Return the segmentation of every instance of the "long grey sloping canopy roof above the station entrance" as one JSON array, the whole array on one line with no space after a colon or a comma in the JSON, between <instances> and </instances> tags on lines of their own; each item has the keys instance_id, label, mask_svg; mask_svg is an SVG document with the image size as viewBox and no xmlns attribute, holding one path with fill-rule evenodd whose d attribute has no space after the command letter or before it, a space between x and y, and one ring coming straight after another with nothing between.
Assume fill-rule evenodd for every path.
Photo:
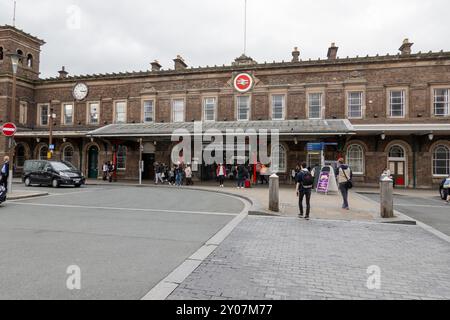
<instances>
[{"instance_id":1,"label":"long grey sloping canopy roof above the station entrance","mask_svg":"<svg viewBox=\"0 0 450 320\"><path fill-rule=\"evenodd\" d=\"M194 123L139 123L111 124L88 133L91 137L145 137L170 136L176 129L186 129L194 133ZM354 129L348 120L286 120L286 121L227 121L203 122L203 132L217 129L226 132L227 129L278 129L280 135L336 135L354 134Z\"/></svg>"}]
</instances>

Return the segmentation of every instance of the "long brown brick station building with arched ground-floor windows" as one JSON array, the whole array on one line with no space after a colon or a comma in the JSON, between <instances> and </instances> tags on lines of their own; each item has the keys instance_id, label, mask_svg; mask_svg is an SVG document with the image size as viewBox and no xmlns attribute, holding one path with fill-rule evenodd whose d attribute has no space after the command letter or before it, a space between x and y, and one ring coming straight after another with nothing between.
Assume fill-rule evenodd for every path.
<instances>
[{"instance_id":1,"label":"long brown brick station building with arched ground-floor windows","mask_svg":"<svg viewBox=\"0 0 450 320\"><path fill-rule=\"evenodd\" d=\"M97 178L104 161L115 161L119 179L137 179L142 150L144 178L154 161L170 164L175 128L277 128L280 175L289 180L297 163L320 163L308 142L328 142L326 160L344 156L357 185L377 185L389 167L397 185L435 187L450 173L450 52L413 53L405 40L393 55L257 63L247 56L230 65L188 67L178 56L172 70L39 77L44 41L11 26L0 27L0 121L15 122L16 174L27 159L45 159L49 114L53 159L73 163ZM7 53L23 56L17 79L16 119L10 119L12 69ZM248 92L233 85L238 74L253 80ZM74 98L81 84L82 100ZM80 88L80 87L78 87ZM142 139L142 149L140 147ZM0 138L0 155L7 141ZM200 165L200 179L214 168Z\"/></svg>"}]
</instances>

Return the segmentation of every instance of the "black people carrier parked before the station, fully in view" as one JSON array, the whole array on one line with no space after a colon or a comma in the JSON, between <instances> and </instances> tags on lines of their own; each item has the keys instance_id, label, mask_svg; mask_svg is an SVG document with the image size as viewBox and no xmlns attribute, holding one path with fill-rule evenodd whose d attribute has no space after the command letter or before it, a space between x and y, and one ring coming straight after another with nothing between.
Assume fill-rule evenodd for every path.
<instances>
[{"instance_id":1,"label":"black people carrier parked before the station, fully in view","mask_svg":"<svg viewBox=\"0 0 450 320\"><path fill-rule=\"evenodd\" d=\"M85 184L83 174L67 162L47 160L25 161L22 181L26 186L33 184L58 188L61 185L80 187Z\"/></svg>"}]
</instances>

